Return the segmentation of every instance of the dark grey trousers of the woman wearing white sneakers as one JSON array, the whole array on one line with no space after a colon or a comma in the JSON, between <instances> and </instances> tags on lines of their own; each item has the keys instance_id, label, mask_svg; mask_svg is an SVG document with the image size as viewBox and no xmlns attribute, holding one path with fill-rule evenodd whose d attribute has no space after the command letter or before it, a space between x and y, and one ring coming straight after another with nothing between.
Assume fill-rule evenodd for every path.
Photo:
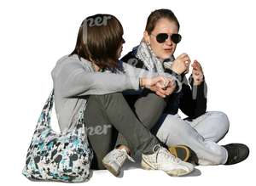
<instances>
[{"instance_id":1,"label":"dark grey trousers of the woman wearing white sneakers","mask_svg":"<svg viewBox=\"0 0 256 186\"><path fill-rule=\"evenodd\" d=\"M143 112L143 108L137 106L136 108ZM161 112L158 116L155 115L156 113L152 113L153 121L148 117L143 120L155 123L161 115ZM137 119L122 93L90 95L84 111L84 123L90 146L94 151L91 165L93 169L105 169L102 159L114 149L118 132L127 139L126 145L133 152L152 154L154 146L160 144L158 139Z\"/></svg>"}]
</instances>

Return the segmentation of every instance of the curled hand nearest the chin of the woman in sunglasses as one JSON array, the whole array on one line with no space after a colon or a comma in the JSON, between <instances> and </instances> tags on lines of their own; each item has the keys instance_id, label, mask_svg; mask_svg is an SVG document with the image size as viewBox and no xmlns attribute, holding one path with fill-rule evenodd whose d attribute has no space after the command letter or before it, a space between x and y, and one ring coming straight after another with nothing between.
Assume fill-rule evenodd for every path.
<instances>
[{"instance_id":1,"label":"curled hand nearest the chin of the woman in sunglasses","mask_svg":"<svg viewBox=\"0 0 256 186\"><path fill-rule=\"evenodd\" d=\"M181 54L173 61L171 69L178 75L181 75L183 72L188 73L190 62L188 54Z\"/></svg>"}]
</instances>

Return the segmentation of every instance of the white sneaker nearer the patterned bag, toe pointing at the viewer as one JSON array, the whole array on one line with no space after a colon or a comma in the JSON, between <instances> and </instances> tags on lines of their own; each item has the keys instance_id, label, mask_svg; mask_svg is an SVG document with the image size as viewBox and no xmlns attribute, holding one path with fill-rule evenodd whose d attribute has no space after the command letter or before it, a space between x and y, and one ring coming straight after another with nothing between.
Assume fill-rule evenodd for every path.
<instances>
[{"instance_id":1,"label":"white sneaker nearer the patterned bag, toe pointing at the viewer","mask_svg":"<svg viewBox=\"0 0 256 186\"><path fill-rule=\"evenodd\" d=\"M126 159L135 162L130 155L127 154L125 149L113 149L106 155L103 160L103 166L105 166L109 172L114 176L119 176L121 167L124 165Z\"/></svg>"}]
</instances>

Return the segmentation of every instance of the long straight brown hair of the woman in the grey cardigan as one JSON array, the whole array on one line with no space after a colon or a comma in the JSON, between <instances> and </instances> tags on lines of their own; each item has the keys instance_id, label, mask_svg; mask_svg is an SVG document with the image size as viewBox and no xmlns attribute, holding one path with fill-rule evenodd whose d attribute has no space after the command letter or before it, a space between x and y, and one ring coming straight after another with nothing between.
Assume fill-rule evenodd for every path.
<instances>
[{"instance_id":1,"label":"long straight brown hair of the woman in the grey cardigan","mask_svg":"<svg viewBox=\"0 0 256 186\"><path fill-rule=\"evenodd\" d=\"M123 27L110 14L87 17L79 28L76 47L70 55L93 61L101 69L119 67L118 50L123 40Z\"/></svg>"}]
</instances>

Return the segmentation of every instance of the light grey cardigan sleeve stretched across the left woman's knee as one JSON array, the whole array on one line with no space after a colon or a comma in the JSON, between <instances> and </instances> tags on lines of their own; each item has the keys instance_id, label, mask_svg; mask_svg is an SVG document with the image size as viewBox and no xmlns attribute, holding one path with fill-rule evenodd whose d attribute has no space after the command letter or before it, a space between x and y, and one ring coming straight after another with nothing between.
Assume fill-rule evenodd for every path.
<instances>
[{"instance_id":1,"label":"light grey cardigan sleeve stretched across the left woman's knee","mask_svg":"<svg viewBox=\"0 0 256 186\"><path fill-rule=\"evenodd\" d=\"M54 76L54 75L52 75ZM90 94L107 94L122 92L127 89L139 89L137 76L114 74L108 72L90 72L83 65L67 64L63 66L56 81L60 84L63 97Z\"/></svg>"}]
</instances>

